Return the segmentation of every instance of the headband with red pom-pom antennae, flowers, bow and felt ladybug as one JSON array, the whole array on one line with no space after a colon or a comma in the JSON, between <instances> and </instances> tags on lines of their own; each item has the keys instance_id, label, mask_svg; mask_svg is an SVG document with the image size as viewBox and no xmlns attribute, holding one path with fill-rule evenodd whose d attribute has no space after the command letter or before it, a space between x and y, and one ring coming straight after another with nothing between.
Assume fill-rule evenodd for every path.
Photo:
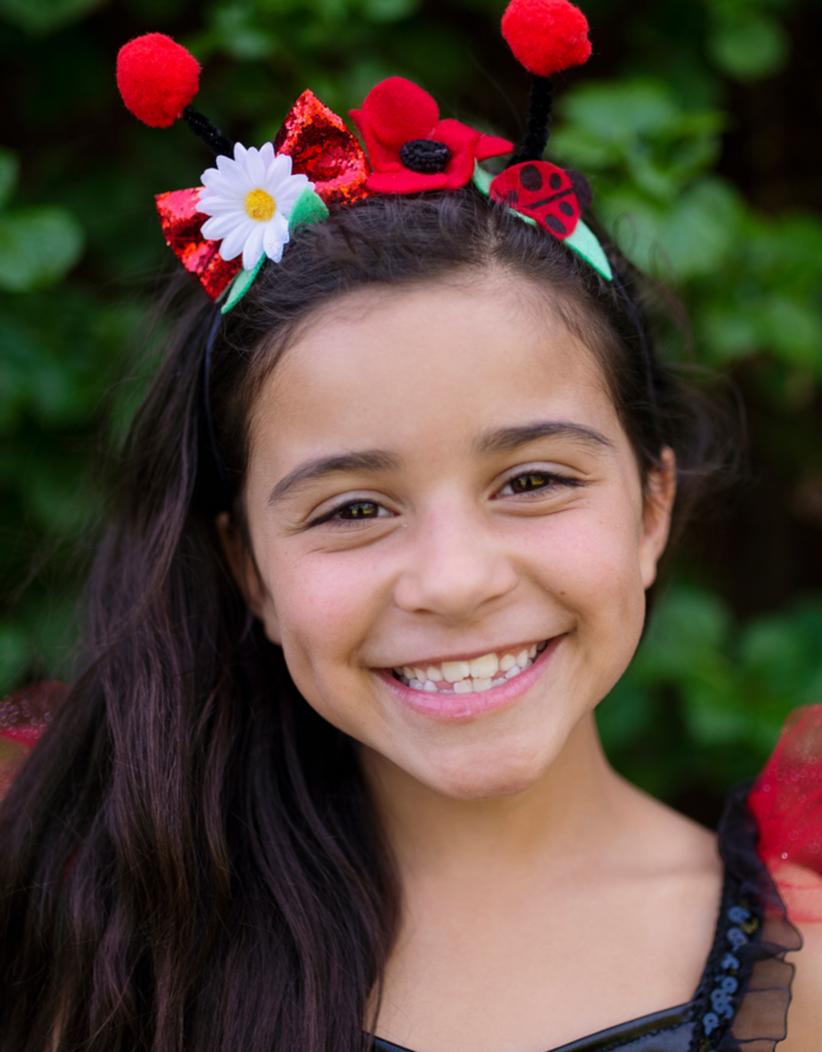
<instances>
[{"instance_id":1,"label":"headband with red pom-pom antennae, flowers, bow and felt ladybug","mask_svg":"<svg viewBox=\"0 0 822 1052\"><path fill-rule=\"evenodd\" d=\"M590 55L585 16L568 0L510 0L502 33L533 75L525 137L512 143L460 121L440 120L435 100L402 77L374 87L350 112L365 150L343 121L303 92L274 142L234 145L192 106L197 60L171 37L149 33L120 49L117 83L125 105L152 127L185 118L217 155L202 186L157 197L166 243L224 313L248 290L263 263L278 263L299 227L375 194L459 189L473 182L527 223L541 226L610 281L607 258L581 213L585 178L542 160L550 134L552 76ZM494 176L481 166L512 155Z\"/></svg>"}]
</instances>

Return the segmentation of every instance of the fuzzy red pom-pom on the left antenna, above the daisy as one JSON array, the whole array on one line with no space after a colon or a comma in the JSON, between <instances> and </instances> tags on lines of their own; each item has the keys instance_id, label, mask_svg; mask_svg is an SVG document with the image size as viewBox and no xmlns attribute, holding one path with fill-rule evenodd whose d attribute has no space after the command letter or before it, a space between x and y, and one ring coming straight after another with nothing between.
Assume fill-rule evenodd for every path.
<instances>
[{"instance_id":1,"label":"fuzzy red pom-pom on the left antenna, above the daisy","mask_svg":"<svg viewBox=\"0 0 822 1052\"><path fill-rule=\"evenodd\" d=\"M135 117L167 128L197 95L200 63L164 33L146 33L120 48L117 86Z\"/></svg>"}]
</instances>

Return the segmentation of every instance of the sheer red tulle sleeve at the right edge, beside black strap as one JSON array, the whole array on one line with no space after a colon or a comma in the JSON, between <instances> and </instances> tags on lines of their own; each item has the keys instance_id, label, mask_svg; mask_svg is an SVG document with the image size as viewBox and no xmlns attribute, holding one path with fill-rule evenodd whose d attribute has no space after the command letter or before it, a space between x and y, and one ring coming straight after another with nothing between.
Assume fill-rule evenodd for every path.
<instances>
[{"instance_id":1,"label":"sheer red tulle sleeve at the right edge, beside black strap","mask_svg":"<svg viewBox=\"0 0 822 1052\"><path fill-rule=\"evenodd\" d=\"M789 919L822 924L822 705L790 714L748 808Z\"/></svg>"}]
</instances>

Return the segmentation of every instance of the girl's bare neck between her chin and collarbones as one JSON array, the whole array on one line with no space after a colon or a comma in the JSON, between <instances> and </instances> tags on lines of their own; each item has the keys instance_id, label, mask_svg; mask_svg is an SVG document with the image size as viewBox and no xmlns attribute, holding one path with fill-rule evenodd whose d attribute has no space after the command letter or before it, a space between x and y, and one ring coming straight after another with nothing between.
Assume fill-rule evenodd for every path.
<instances>
[{"instance_id":1,"label":"girl's bare neck between her chin and collarbones","mask_svg":"<svg viewBox=\"0 0 822 1052\"><path fill-rule=\"evenodd\" d=\"M363 749L365 777L403 878L459 876L535 862L563 865L621 838L633 791L608 765L593 714L568 736L542 777L524 792L454 800ZM479 869L478 869L479 867Z\"/></svg>"}]
</instances>

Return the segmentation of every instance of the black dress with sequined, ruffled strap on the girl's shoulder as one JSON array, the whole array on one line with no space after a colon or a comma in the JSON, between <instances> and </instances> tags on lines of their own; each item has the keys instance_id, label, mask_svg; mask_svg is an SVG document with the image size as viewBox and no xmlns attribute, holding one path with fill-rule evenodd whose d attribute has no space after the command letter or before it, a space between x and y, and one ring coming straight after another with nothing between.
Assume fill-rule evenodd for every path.
<instances>
[{"instance_id":1,"label":"black dress with sequined, ruffled strap on the girl's shoulder","mask_svg":"<svg viewBox=\"0 0 822 1052\"><path fill-rule=\"evenodd\" d=\"M785 1037L794 966L784 956L801 938L757 854L757 823L745 804L749 788L731 791L720 824L722 901L694 997L550 1052L774 1052ZM379 1038L374 1047L410 1052Z\"/></svg>"}]
</instances>

